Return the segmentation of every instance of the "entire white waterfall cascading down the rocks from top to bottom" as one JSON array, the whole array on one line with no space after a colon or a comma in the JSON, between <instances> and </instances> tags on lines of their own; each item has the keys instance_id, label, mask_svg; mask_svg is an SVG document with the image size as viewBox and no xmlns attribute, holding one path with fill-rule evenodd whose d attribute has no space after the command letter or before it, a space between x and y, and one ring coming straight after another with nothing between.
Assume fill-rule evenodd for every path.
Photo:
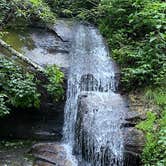
<instances>
[{"instance_id":1,"label":"entire white waterfall cascading down the rocks from top to bottom","mask_svg":"<svg viewBox=\"0 0 166 166\"><path fill-rule=\"evenodd\" d=\"M118 71L96 28L78 24L73 31L64 142L79 165L122 166L125 106L115 94Z\"/></svg>"}]
</instances>

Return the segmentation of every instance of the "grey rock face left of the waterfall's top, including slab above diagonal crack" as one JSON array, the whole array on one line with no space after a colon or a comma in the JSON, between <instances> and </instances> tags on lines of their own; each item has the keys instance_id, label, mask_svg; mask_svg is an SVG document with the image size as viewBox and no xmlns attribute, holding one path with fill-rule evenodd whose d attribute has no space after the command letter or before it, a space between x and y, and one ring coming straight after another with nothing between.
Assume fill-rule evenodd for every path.
<instances>
[{"instance_id":1,"label":"grey rock face left of the waterfall's top, including slab above diagonal crack","mask_svg":"<svg viewBox=\"0 0 166 166\"><path fill-rule=\"evenodd\" d=\"M57 20L48 29L32 29L32 48L23 47L25 55L41 66L57 65L67 74L72 42L73 21Z\"/></svg>"}]
</instances>

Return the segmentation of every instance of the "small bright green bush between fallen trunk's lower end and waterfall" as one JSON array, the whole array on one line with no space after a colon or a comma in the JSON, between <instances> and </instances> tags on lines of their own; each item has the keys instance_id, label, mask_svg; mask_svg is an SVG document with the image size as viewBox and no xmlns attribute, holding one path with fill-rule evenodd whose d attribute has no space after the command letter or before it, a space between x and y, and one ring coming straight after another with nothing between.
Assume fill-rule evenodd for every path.
<instances>
[{"instance_id":1,"label":"small bright green bush between fallen trunk's lower end and waterfall","mask_svg":"<svg viewBox=\"0 0 166 166\"><path fill-rule=\"evenodd\" d=\"M48 77L47 91L53 96L55 101L59 101L64 94L64 74L56 66L48 66L46 68L46 75Z\"/></svg>"}]
</instances>

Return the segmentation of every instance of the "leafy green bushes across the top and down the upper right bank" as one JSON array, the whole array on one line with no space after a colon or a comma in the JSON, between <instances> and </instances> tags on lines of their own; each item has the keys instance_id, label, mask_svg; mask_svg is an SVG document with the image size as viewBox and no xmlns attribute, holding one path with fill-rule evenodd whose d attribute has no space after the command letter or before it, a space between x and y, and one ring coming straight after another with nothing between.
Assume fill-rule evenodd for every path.
<instances>
[{"instance_id":1,"label":"leafy green bushes across the top and down the upper right bank","mask_svg":"<svg viewBox=\"0 0 166 166\"><path fill-rule=\"evenodd\" d=\"M20 19L26 24L49 22L55 15L96 24L121 67L125 91L166 82L166 3L162 0L3 0L0 8L1 27ZM11 21L4 22L6 18Z\"/></svg>"}]
</instances>

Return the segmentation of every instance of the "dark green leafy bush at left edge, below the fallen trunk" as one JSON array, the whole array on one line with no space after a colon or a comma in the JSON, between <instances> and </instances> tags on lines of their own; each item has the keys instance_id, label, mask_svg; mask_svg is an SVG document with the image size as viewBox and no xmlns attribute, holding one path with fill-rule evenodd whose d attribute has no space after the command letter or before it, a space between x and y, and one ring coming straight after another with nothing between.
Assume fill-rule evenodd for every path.
<instances>
[{"instance_id":1,"label":"dark green leafy bush at left edge, below the fallen trunk","mask_svg":"<svg viewBox=\"0 0 166 166\"><path fill-rule=\"evenodd\" d=\"M39 108L39 93L34 76L4 58L0 58L0 116L11 107Z\"/></svg>"}]
</instances>

